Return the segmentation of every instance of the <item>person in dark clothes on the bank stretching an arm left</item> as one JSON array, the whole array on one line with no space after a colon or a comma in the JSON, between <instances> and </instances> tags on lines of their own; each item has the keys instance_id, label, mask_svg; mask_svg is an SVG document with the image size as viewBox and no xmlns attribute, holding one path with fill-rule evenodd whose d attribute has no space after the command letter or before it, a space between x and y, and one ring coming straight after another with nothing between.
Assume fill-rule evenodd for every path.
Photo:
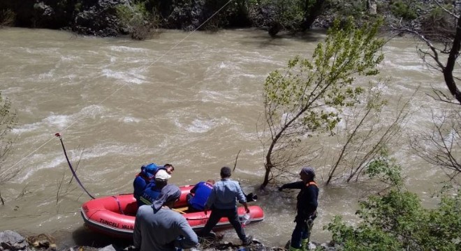
<instances>
[{"instance_id":1,"label":"person in dark clothes on the bank stretching an arm left","mask_svg":"<svg viewBox=\"0 0 461 251\"><path fill-rule=\"evenodd\" d=\"M307 250L309 245L310 230L312 229L313 220L317 216L317 197L319 197L319 188L314 181L315 173L312 167L302 167L300 172L302 181L287 183L279 188L300 189L296 199L297 215L295 217L296 226L291 234L291 244L289 251Z\"/></svg>"}]
</instances>

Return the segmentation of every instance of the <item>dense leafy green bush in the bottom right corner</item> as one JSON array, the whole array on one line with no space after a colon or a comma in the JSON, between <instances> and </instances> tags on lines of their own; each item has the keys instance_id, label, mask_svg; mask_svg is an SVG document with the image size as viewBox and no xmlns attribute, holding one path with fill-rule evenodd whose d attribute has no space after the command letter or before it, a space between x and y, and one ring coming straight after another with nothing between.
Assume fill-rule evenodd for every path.
<instances>
[{"instance_id":1,"label":"dense leafy green bush in the bottom right corner","mask_svg":"<svg viewBox=\"0 0 461 251\"><path fill-rule=\"evenodd\" d=\"M343 250L461 250L460 191L443 193L436 208L423 208L418 196L404 189L399 168L389 158L372 162L369 174L388 176L386 195L360 201L356 227L335 216L325 229ZM394 182L397 181L397 182Z\"/></svg>"}]
</instances>

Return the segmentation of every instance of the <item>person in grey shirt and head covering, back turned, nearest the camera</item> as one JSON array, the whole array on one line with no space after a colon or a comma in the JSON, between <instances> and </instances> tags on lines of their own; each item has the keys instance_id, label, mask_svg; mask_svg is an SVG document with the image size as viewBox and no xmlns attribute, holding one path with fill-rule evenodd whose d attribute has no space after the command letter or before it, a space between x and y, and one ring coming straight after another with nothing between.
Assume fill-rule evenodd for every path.
<instances>
[{"instance_id":1,"label":"person in grey shirt and head covering, back turned, nearest the camera","mask_svg":"<svg viewBox=\"0 0 461 251\"><path fill-rule=\"evenodd\" d=\"M173 251L198 245L198 237L186 218L171 210L180 196L180 188L166 185L152 206L138 209L133 229L136 250Z\"/></svg>"}]
</instances>

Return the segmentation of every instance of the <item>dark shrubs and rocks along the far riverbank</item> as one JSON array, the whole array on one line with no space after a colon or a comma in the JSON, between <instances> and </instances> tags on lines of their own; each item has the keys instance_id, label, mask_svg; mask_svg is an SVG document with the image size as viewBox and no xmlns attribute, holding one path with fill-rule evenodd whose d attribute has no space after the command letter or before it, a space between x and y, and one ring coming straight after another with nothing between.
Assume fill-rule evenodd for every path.
<instances>
[{"instance_id":1,"label":"dark shrubs and rocks along the far riverbank","mask_svg":"<svg viewBox=\"0 0 461 251\"><path fill-rule=\"evenodd\" d=\"M352 16L361 26L384 19L384 30L397 24L425 33L444 32L450 24L434 1L423 0L5 0L0 27L61 29L85 36L152 38L161 29L219 31L265 29L295 35L312 28L328 29L337 18ZM434 23L434 21L437 21ZM436 24L436 25L434 25ZM397 31L399 33L399 31Z\"/></svg>"}]
</instances>

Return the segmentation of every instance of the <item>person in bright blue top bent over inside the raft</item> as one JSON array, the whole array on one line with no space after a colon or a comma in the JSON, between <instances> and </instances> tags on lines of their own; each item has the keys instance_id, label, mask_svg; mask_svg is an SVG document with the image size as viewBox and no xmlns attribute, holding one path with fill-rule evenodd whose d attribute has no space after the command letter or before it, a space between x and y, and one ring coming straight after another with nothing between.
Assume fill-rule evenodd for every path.
<instances>
[{"instance_id":1,"label":"person in bright blue top bent over inside the raft","mask_svg":"<svg viewBox=\"0 0 461 251\"><path fill-rule=\"evenodd\" d=\"M191 189L191 193L187 195L187 205L190 212L203 211L205 203L213 190L214 180L200 181Z\"/></svg>"}]
</instances>

